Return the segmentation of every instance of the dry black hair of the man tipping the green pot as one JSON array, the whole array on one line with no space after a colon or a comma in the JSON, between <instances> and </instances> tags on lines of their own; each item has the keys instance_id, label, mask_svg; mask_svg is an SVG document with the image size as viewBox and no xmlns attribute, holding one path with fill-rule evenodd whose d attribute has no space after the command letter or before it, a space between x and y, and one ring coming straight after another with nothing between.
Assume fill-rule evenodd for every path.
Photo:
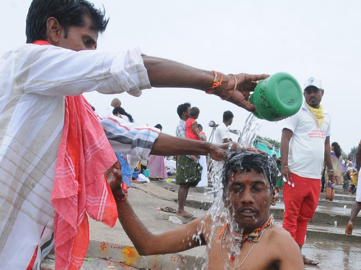
<instances>
[{"instance_id":1,"label":"dry black hair of the man tipping the green pot","mask_svg":"<svg viewBox=\"0 0 361 270\"><path fill-rule=\"evenodd\" d=\"M97 9L86 0L33 0L26 17L26 43L47 39L50 17L58 20L66 37L70 26L84 26L84 15L91 18L93 30L105 31L109 18L105 18L104 6L103 10Z\"/></svg>"}]
</instances>

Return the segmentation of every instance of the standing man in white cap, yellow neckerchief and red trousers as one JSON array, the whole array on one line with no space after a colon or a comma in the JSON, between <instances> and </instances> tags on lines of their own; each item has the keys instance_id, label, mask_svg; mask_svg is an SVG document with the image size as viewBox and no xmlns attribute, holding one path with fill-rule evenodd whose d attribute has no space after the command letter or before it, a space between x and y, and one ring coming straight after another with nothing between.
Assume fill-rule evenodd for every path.
<instances>
[{"instance_id":1,"label":"standing man in white cap, yellow neckerchief and red trousers","mask_svg":"<svg viewBox=\"0 0 361 270\"><path fill-rule=\"evenodd\" d=\"M288 185L283 187L283 228L290 232L302 250L308 221L313 217L321 191L323 161L330 181L334 181L330 147L330 114L323 109L322 83L314 77L304 85L305 102L286 119L281 138L281 174ZM304 263L318 262L304 256Z\"/></svg>"}]
</instances>

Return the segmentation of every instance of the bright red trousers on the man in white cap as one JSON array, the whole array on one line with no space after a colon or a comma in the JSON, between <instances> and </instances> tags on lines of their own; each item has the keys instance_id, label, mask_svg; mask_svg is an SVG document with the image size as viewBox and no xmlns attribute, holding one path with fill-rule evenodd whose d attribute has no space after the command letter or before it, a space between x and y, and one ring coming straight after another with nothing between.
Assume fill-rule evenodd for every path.
<instances>
[{"instance_id":1,"label":"bright red trousers on the man in white cap","mask_svg":"<svg viewBox=\"0 0 361 270\"><path fill-rule=\"evenodd\" d=\"M290 232L296 243L303 245L307 224L312 219L321 192L320 179L301 177L291 173L289 179L295 186L283 185L283 229Z\"/></svg>"}]
</instances>

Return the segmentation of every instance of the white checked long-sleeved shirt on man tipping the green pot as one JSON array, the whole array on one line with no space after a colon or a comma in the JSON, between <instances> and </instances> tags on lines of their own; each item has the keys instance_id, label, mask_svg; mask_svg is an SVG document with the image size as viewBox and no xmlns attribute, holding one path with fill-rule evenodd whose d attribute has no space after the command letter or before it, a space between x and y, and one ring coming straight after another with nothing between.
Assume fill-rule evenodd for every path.
<instances>
[{"instance_id":1,"label":"white checked long-sleeved shirt on man tipping the green pot","mask_svg":"<svg viewBox=\"0 0 361 270\"><path fill-rule=\"evenodd\" d=\"M50 199L64 126L64 96L94 90L140 96L146 88L151 86L138 49L76 52L26 44L0 58L2 268L26 269L34 247L53 230ZM23 239L27 244L19 245Z\"/></svg>"}]
</instances>

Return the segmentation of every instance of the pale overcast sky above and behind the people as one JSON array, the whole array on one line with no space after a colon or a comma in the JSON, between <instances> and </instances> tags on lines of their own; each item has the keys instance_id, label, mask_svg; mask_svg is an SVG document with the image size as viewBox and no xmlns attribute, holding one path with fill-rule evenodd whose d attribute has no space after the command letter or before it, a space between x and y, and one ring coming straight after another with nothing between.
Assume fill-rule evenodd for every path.
<instances>
[{"instance_id":1,"label":"pale overcast sky above and behind the people","mask_svg":"<svg viewBox=\"0 0 361 270\"><path fill-rule=\"evenodd\" d=\"M331 142L345 153L361 139L360 12L361 1L213 1L96 0L110 17L98 50L122 51L135 46L143 53L223 73L293 75L303 86L310 77L322 81L324 108L331 114ZM0 54L25 43L25 19L31 0L2 1ZM222 122L234 113L231 129L242 130L249 112L199 90L144 90L135 98L85 94L103 111L114 97L135 122L175 135L177 106L190 102L200 109L198 122L209 136L210 120ZM24 112L26 113L26 112ZM283 121L262 121L259 135L280 141ZM236 138L236 135L234 139Z\"/></svg>"}]
</instances>

